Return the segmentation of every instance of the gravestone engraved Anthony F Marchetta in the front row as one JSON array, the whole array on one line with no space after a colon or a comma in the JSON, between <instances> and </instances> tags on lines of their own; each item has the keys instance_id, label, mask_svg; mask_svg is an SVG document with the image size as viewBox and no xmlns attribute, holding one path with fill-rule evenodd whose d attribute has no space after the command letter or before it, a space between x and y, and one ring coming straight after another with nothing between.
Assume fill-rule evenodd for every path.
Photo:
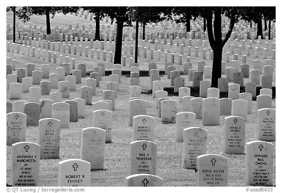
<instances>
[{"instance_id":1,"label":"gravestone engraved Anthony F Marchetta in the front row","mask_svg":"<svg viewBox=\"0 0 282 193\"><path fill-rule=\"evenodd\" d=\"M31 142L12 144L11 185L39 186L40 145Z\"/></svg>"}]
</instances>

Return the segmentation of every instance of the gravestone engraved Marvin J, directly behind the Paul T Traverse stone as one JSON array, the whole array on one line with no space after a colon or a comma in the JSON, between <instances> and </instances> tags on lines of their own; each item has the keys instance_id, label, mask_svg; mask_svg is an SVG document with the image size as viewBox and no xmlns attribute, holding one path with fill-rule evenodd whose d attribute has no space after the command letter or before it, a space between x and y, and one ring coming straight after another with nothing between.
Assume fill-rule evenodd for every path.
<instances>
[{"instance_id":1,"label":"gravestone engraved Marvin J, directly behind the Paul T Traverse stone","mask_svg":"<svg viewBox=\"0 0 282 193\"><path fill-rule=\"evenodd\" d=\"M133 117L132 141L154 141L154 117L136 115Z\"/></svg>"}]
</instances>

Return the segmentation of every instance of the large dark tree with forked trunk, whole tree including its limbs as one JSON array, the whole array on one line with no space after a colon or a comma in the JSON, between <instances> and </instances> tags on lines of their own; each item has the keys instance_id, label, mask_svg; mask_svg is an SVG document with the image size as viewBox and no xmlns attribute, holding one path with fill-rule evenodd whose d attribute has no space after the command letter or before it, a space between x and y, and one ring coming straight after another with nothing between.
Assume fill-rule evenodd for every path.
<instances>
[{"instance_id":1,"label":"large dark tree with forked trunk, whole tree including its limbs","mask_svg":"<svg viewBox=\"0 0 282 193\"><path fill-rule=\"evenodd\" d=\"M221 60L223 46L229 39L235 22L238 21L240 13L240 7L202 7L200 10L200 15L207 20L209 43L213 51L211 87L217 87L217 80L221 78ZM225 16L230 18L230 27L223 40L221 33L221 14L224 14ZM214 20L212 32L213 15Z\"/></svg>"}]
</instances>

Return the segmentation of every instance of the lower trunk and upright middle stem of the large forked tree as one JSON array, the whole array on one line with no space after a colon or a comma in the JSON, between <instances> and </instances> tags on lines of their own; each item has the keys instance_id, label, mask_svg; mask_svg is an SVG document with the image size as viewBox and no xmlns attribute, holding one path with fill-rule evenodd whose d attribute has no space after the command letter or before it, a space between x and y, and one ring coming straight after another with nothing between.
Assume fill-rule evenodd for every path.
<instances>
[{"instance_id":1,"label":"lower trunk and upright middle stem of the large forked tree","mask_svg":"<svg viewBox=\"0 0 282 193\"><path fill-rule=\"evenodd\" d=\"M217 80L221 78L221 59L222 59L222 34L221 34L221 9L214 11L214 47L212 60L211 87L217 88Z\"/></svg>"}]
</instances>

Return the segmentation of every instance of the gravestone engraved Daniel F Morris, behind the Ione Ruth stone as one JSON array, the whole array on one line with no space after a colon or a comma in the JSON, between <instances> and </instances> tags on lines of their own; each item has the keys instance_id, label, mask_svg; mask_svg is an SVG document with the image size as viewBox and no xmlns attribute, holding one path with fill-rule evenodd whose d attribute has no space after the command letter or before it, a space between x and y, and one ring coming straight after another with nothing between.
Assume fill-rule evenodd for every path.
<instances>
[{"instance_id":1,"label":"gravestone engraved Daniel F Morris, behind the Ione Ruth stone","mask_svg":"<svg viewBox=\"0 0 282 193\"><path fill-rule=\"evenodd\" d=\"M223 153L244 154L246 119L239 116L224 118Z\"/></svg>"}]
</instances>

